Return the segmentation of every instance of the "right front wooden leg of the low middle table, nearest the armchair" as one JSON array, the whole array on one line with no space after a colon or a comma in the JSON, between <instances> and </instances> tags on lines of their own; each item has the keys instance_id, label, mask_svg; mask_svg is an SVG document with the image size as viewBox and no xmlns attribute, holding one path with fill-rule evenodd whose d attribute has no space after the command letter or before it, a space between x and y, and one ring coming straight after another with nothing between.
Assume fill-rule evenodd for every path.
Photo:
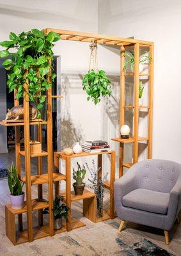
<instances>
[{"instance_id":1,"label":"right front wooden leg of the low middle table, nearest the armchair","mask_svg":"<svg viewBox=\"0 0 181 256\"><path fill-rule=\"evenodd\" d=\"M114 180L115 180L115 159L116 154L111 152L111 177L110 177L110 218L114 218Z\"/></svg>"}]
</instances>

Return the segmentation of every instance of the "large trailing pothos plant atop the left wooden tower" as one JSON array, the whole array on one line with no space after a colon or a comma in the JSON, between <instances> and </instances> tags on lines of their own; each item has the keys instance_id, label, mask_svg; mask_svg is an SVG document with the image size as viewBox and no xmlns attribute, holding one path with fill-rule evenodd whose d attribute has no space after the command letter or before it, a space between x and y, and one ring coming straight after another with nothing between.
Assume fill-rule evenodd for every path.
<instances>
[{"instance_id":1,"label":"large trailing pothos plant atop the left wooden tower","mask_svg":"<svg viewBox=\"0 0 181 256\"><path fill-rule=\"evenodd\" d=\"M52 47L59 39L58 33L51 31L44 35L43 30L31 29L19 35L11 32L10 40L0 43L5 48L0 51L0 58L6 58L3 66L6 70L10 70L7 81L9 92L16 89L16 99L19 100L24 95L24 83L28 79L29 101L36 102L38 118L41 116L41 109L45 102L42 92L52 86L56 78L56 74L52 72ZM12 49L13 53L10 53ZM47 78L49 72L51 72L51 79Z\"/></svg>"}]
</instances>

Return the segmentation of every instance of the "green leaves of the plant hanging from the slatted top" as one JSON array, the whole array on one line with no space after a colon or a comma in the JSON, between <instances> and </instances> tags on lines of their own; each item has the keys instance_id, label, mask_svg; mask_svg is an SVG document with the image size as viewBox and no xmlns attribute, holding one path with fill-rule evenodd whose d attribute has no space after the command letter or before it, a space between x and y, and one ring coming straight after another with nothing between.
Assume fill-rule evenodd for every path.
<instances>
[{"instance_id":1,"label":"green leaves of the plant hanging from the slatted top","mask_svg":"<svg viewBox=\"0 0 181 256\"><path fill-rule=\"evenodd\" d=\"M111 96L111 81L107 78L104 70L91 69L83 78L83 90L88 94L87 100L92 99L94 104L100 102L100 96Z\"/></svg>"}]
</instances>

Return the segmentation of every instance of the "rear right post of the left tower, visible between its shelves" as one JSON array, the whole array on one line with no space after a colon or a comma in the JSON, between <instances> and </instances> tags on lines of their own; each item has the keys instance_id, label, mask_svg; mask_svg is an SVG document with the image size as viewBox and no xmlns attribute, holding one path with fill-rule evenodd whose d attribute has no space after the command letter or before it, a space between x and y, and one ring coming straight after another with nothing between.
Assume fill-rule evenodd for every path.
<instances>
[{"instance_id":1,"label":"rear right post of the left tower, visible between its shelves","mask_svg":"<svg viewBox=\"0 0 181 256\"><path fill-rule=\"evenodd\" d=\"M42 125L37 127L37 139L42 143ZM42 157L38 156L38 175L42 175ZM43 198L42 184L38 185L38 198ZM43 214L42 210L38 211L38 225L43 225Z\"/></svg>"}]
</instances>

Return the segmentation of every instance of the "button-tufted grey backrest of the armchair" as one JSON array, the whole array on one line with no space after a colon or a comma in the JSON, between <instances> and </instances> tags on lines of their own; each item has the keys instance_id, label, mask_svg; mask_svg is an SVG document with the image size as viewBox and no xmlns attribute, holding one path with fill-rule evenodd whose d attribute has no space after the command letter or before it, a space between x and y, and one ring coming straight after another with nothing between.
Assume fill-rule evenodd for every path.
<instances>
[{"instance_id":1,"label":"button-tufted grey backrest of the armchair","mask_svg":"<svg viewBox=\"0 0 181 256\"><path fill-rule=\"evenodd\" d=\"M132 166L139 180L139 188L169 193L181 175L181 164L161 159L148 159ZM131 169L129 172L131 172Z\"/></svg>"}]
</instances>

